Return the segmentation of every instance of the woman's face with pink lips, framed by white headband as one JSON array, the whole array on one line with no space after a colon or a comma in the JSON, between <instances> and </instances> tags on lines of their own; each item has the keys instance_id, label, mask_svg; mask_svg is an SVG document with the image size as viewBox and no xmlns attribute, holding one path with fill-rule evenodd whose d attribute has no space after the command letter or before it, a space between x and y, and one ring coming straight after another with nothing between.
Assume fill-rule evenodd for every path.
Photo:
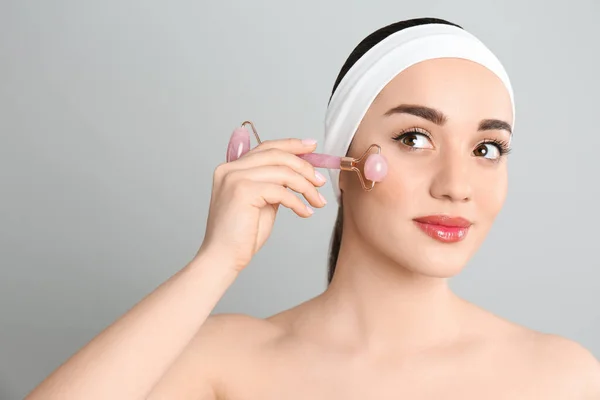
<instances>
[{"instance_id":1,"label":"woman's face with pink lips, framed by white headband","mask_svg":"<svg viewBox=\"0 0 600 400\"><path fill-rule=\"evenodd\" d=\"M435 59L404 70L373 102L350 147L358 157L379 144L389 168L371 192L355 174L341 174L344 226L404 268L456 274L504 203L512 121L508 91L479 64Z\"/></svg>"}]
</instances>

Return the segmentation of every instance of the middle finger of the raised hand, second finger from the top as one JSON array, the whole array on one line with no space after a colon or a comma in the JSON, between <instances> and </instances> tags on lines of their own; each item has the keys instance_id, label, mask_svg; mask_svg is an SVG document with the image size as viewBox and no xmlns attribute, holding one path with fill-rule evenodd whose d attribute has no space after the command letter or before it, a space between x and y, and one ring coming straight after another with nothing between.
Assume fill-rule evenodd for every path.
<instances>
[{"instance_id":1,"label":"middle finger of the raised hand, second finger from the top","mask_svg":"<svg viewBox=\"0 0 600 400\"><path fill-rule=\"evenodd\" d=\"M227 163L223 168L225 168L227 172L233 173L234 171L247 171L265 166L283 166L290 168L308 179L314 186L318 187L323 186L327 181L325 176L317 171L308 161L276 148L265 149L253 154L246 154L239 160Z\"/></svg>"}]
</instances>

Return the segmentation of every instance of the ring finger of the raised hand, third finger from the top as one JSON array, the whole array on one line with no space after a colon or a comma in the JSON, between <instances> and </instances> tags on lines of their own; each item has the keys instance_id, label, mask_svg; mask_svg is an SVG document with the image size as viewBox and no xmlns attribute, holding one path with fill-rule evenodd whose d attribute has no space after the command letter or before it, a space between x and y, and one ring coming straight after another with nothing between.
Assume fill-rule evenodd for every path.
<instances>
[{"instance_id":1,"label":"ring finger of the raised hand, third finger from the top","mask_svg":"<svg viewBox=\"0 0 600 400\"><path fill-rule=\"evenodd\" d=\"M274 183L287 187L304 196L313 207L323 207L327 204L325 197L304 176L285 166L262 166L232 173L232 179L252 180L255 182ZM235 182L233 183L235 184Z\"/></svg>"}]
</instances>

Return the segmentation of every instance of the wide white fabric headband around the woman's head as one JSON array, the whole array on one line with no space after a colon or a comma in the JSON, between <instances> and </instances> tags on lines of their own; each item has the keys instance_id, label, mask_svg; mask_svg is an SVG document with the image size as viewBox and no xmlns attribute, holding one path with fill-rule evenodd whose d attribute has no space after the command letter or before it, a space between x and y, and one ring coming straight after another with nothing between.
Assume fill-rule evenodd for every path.
<instances>
[{"instance_id":1,"label":"wide white fabric headband around the woman's head","mask_svg":"<svg viewBox=\"0 0 600 400\"><path fill-rule=\"evenodd\" d=\"M386 37L369 49L335 89L325 115L324 152L346 155L358 126L379 92L400 72L421 61L462 58L495 73L515 102L508 74L496 56L475 36L445 24L418 25ZM330 169L331 185L340 201L340 170Z\"/></svg>"}]
</instances>

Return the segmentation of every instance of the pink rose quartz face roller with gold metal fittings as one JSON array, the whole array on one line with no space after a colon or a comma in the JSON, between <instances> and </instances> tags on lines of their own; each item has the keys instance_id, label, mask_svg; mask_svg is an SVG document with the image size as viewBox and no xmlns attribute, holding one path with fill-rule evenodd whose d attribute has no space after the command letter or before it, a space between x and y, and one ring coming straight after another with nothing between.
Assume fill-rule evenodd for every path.
<instances>
[{"instance_id":1,"label":"pink rose quartz face roller with gold metal fittings","mask_svg":"<svg viewBox=\"0 0 600 400\"><path fill-rule=\"evenodd\" d=\"M227 162L235 161L250 151L250 132L245 125L252 127L256 141L261 140L250 121L244 121L241 127L236 128L231 134L227 146ZM369 191L375 186L375 182L381 182L387 174L387 161L381 154L381 147L376 144L369 146L367 151L359 158L338 157L328 154L307 153L299 154L298 157L308 161L316 168L339 169L342 171L354 171L358 175L363 189Z\"/></svg>"}]
</instances>

